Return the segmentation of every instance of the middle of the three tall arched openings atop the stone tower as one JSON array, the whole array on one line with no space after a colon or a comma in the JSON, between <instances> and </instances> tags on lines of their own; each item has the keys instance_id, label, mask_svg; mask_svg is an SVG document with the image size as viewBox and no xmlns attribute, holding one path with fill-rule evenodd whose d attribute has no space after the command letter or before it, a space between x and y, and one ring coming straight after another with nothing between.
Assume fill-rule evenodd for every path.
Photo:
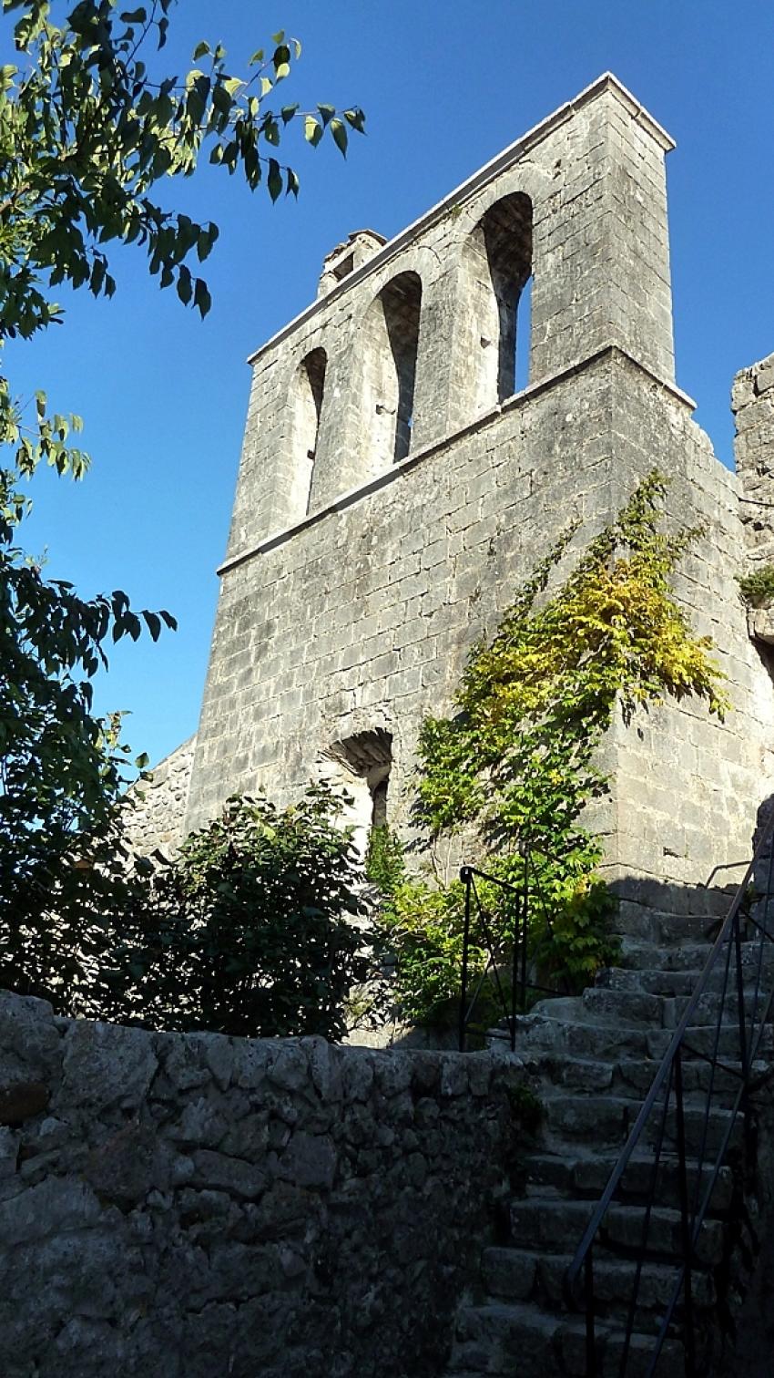
<instances>
[{"instance_id":1,"label":"middle of the three tall arched openings atop the stone tower","mask_svg":"<svg viewBox=\"0 0 774 1378\"><path fill-rule=\"evenodd\" d=\"M405 459L412 445L421 280L399 273L370 303L364 322L368 469Z\"/></svg>"}]
</instances>

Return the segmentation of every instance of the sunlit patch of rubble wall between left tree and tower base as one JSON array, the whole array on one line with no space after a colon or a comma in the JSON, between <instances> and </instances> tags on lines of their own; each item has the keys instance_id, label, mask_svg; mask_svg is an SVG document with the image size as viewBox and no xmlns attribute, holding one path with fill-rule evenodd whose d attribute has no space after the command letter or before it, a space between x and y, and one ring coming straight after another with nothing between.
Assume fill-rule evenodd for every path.
<instances>
[{"instance_id":1,"label":"sunlit patch of rubble wall between left tree and tower base","mask_svg":"<svg viewBox=\"0 0 774 1378\"><path fill-rule=\"evenodd\" d=\"M124 836L132 852L147 856L160 849L174 856L185 838L196 736L164 757L128 791Z\"/></svg>"}]
</instances>

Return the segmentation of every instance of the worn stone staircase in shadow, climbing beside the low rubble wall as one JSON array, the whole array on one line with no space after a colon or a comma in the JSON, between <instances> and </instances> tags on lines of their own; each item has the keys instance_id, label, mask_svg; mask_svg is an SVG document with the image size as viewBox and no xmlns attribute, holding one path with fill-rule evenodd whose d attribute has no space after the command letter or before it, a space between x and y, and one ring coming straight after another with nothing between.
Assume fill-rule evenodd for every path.
<instances>
[{"instance_id":1,"label":"worn stone staircase in shadow, climbing beside the low rubble wall","mask_svg":"<svg viewBox=\"0 0 774 1378\"><path fill-rule=\"evenodd\" d=\"M727 900L723 901L727 908ZM621 966L599 974L578 998L541 1000L519 1018L516 1053L536 1078L543 1105L541 1126L523 1156L516 1193L510 1202L501 1242L483 1251L481 1294L457 1313L448 1378L482 1374L510 1378L583 1378L587 1374L584 1315L565 1302L565 1275L583 1232L602 1195L618 1155L653 1083L709 951L711 930L720 914L709 896L704 912L684 915L621 907ZM713 933L712 933L713 936ZM764 952L764 985L774 983L773 951ZM757 949L742 943L745 999L751 999ZM712 974L686 1039L697 1053L711 1054L723 970ZM729 991L733 991L733 974ZM719 1056L727 1071L715 1072L715 1094L707 1124L709 1181L716 1151L729 1127L726 1108L738 1090L740 1045L734 1021L737 1000L729 994L719 1034ZM764 1029L760 1056L771 1050ZM503 1039L507 1035L503 1034ZM497 1034L492 1036L497 1046ZM510 1046L510 1045L503 1045ZM774 1056L773 1056L774 1060ZM756 1064L756 1073L767 1062ZM689 1189L697 1188L698 1149L705 1133L705 1096L712 1068L700 1057L683 1060L684 1133L689 1151ZM679 1159L673 1109L667 1118L656 1197L649 1225L649 1253L642 1266L635 1330L625 1368L624 1337L635 1255L640 1246L646 1200L654 1175L653 1144L660 1115L629 1160L605 1221L605 1239L594 1250L596 1363L599 1378L684 1378L684 1350L679 1334L669 1334L656 1370L650 1368L654 1334L678 1277L680 1250ZM734 1126L730 1153L744 1141L741 1116ZM690 1162L691 1151L694 1162ZM741 1155L737 1155L741 1160ZM701 1334L700 1374L712 1374L731 1328L735 1273L741 1254L755 1251L740 1218L740 1173L720 1170L697 1246L693 1277L694 1308ZM749 1236L749 1231L748 1231ZM598 1236L599 1240L599 1236ZM773 1367L774 1372L774 1367Z\"/></svg>"}]
</instances>

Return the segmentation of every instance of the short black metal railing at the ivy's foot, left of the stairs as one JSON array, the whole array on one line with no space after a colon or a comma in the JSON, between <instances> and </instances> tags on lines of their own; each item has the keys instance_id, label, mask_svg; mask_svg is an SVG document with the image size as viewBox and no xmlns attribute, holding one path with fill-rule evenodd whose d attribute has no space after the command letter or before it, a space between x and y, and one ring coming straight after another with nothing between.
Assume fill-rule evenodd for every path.
<instances>
[{"instance_id":1,"label":"short black metal railing at the ivy's foot, left of the stairs","mask_svg":"<svg viewBox=\"0 0 774 1378\"><path fill-rule=\"evenodd\" d=\"M516 1016L526 1010L527 991L537 991L544 995L563 995L566 991L558 991L552 987L540 985L538 983L530 980L529 971L529 926L532 921L532 914L536 907L543 911L543 918L548 932L551 933L551 915L543 898L543 892L540 889L537 868L534 864L534 857L532 850L525 849L522 853L523 858L523 878L521 885L512 885L510 881L503 881L501 876L492 875L488 871L481 871L478 867L464 865L460 870L460 881L466 887L466 921L463 929L463 970L461 970L461 991L460 991L460 1025L459 1025L459 1046L460 1051L466 1051L467 1034L475 1011L475 1006L483 989L485 981L492 977L492 985L497 994L497 1002L500 1006L500 1014L508 1027L508 1035L511 1040L511 1051L516 1046ZM477 879L486 881L496 885L504 893L514 897L514 926L510 934L511 954L510 954L510 991L505 989L503 984L503 977L500 974L500 962L503 959L503 951L494 941L490 925L490 916L486 911L486 905L482 904L481 894L477 886ZM483 937L486 948L486 963L483 969L478 973L478 978L474 985L472 996L471 989L471 948L472 943L472 909L474 904L477 907L478 925ZM478 947L478 944L475 944Z\"/></svg>"}]
</instances>

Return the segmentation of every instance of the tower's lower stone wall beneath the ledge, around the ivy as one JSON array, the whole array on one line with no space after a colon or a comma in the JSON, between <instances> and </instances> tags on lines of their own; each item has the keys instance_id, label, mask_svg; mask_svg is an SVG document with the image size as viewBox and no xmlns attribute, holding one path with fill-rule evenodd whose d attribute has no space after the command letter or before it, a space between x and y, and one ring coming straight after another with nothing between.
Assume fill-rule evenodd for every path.
<instances>
[{"instance_id":1,"label":"tower's lower stone wall beneath the ledge, around the ivy","mask_svg":"<svg viewBox=\"0 0 774 1378\"><path fill-rule=\"evenodd\" d=\"M391 736L388 820L406 830L420 722L450 704L471 642L494 630L565 522L580 517L588 540L654 466L672 480L669 517L705 526L676 591L713 638L734 710L722 723L686 699L617 722L595 824L621 874L697 883L749 856L774 779L774 696L734 577L735 480L690 402L616 349L229 572L190 823L256 781L286 802L332 744L379 730Z\"/></svg>"}]
</instances>

